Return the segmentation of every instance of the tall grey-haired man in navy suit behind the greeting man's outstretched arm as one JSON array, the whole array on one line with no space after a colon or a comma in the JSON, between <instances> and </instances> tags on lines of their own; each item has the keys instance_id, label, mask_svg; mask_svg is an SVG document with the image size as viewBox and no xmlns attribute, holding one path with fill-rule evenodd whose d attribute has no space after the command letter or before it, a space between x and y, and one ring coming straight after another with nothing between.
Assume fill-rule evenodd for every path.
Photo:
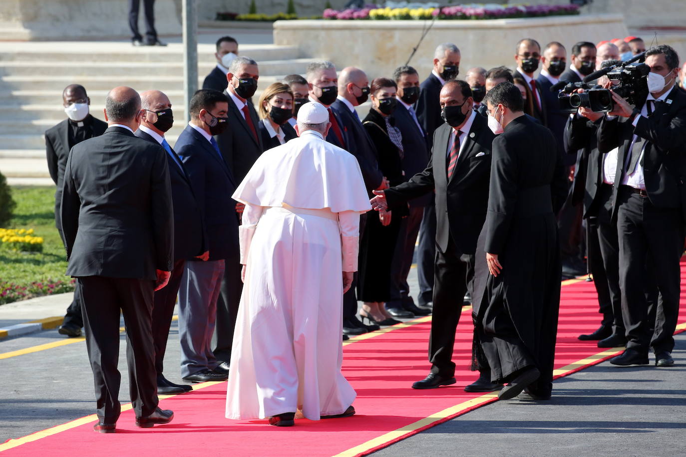
<instances>
[{"instance_id":1,"label":"tall grey-haired man in navy suit behind the greeting man's outstretched arm","mask_svg":"<svg viewBox=\"0 0 686 457\"><path fill-rule=\"evenodd\" d=\"M452 43L442 43L434 51L434 69L419 88L419 98L414 103L417 119L424 129L427 140L434 138L434 131L443 120L440 117L438 97L443 84L460 73L460 49ZM431 144L427 145L431 147ZM417 280L419 295L417 304L431 308L434 300L434 260L436 258L436 205L433 195L424 208L419 227L419 245L417 247Z\"/></svg>"}]
</instances>

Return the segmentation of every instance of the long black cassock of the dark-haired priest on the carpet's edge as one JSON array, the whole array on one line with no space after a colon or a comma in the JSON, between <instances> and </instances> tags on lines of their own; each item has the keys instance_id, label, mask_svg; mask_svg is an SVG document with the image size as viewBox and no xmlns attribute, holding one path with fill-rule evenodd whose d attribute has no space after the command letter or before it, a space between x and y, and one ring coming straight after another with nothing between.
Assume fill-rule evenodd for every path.
<instances>
[{"instance_id":1,"label":"long black cassock of the dark-haired priest on the carpet's edge","mask_svg":"<svg viewBox=\"0 0 686 457\"><path fill-rule=\"evenodd\" d=\"M494 382L526 367L550 392L560 308L560 247L555 213L567 196L563 158L551 132L525 116L493 140L486 223L477 247L474 312ZM488 274L486 252L503 269Z\"/></svg>"}]
</instances>

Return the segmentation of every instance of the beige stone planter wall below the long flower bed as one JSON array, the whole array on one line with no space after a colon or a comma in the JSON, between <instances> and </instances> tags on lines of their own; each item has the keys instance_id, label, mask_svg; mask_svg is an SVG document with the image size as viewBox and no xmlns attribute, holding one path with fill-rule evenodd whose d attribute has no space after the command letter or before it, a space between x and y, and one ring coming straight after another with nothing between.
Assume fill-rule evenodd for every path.
<instances>
[{"instance_id":1,"label":"beige stone planter wall below the long flower bed","mask_svg":"<svg viewBox=\"0 0 686 457\"><path fill-rule=\"evenodd\" d=\"M370 79L390 77L393 69L407 62L429 22L277 21L274 43L296 45L301 55L331 60L337 69L358 66ZM471 66L514 66L514 45L521 38L534 38L541 46L559 41L569 54L572 45L580 40L598 42L608 36L627 35L620 14L436 21L410 65L422 78L426 77L431 72L434 49L442 42L453 42L460 48L460 75L464 76Z\"/></svg>"}]
</instances>

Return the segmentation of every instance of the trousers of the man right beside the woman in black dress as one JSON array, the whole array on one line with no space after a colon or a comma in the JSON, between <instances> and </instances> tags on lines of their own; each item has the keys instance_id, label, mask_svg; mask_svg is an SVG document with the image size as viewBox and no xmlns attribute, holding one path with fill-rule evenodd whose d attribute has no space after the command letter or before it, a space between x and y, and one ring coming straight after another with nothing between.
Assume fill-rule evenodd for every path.
<instances>
[{"instance_id":1,"label":"trousers of the man right beside the woman in black dress","mask_svg":"<svg viewBox=\"0 0 686 457\"><path fill-rule=\"evenodd\" d=\"M401 221L390 267L390 300L386 302L386 308L402 308L403 303L414 304L410 297L407 275L410 274L412 267L414 244L422 222L422 214L424 214L423 207L412 207L410 214Z\"/></svg>"}]
</instances>

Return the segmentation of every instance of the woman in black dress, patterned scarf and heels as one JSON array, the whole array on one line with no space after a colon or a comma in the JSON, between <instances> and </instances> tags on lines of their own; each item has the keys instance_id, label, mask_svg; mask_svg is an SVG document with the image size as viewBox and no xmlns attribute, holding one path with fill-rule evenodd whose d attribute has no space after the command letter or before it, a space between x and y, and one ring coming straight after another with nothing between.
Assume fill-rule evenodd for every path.
<instances>
[{"instance_id":1,"label":"woman in black dress, patterned scarf and heels","mask_svg":"<svg viewBox=\"0 0 686 457\"><path fill-rule=\"evenodd\" d=\"M400 130L395 127L393 111L397 85L391 79L372 81L372 108L362 124L377 148L379 169L390 186L403 182L403 143ZM360 315L380 325L399 321L392 318L384 304L390 299L390 270L401 219L407 210L369 212L359 249L359 279L357 299L364 301Z\"/></svg>"}]
</instances>

